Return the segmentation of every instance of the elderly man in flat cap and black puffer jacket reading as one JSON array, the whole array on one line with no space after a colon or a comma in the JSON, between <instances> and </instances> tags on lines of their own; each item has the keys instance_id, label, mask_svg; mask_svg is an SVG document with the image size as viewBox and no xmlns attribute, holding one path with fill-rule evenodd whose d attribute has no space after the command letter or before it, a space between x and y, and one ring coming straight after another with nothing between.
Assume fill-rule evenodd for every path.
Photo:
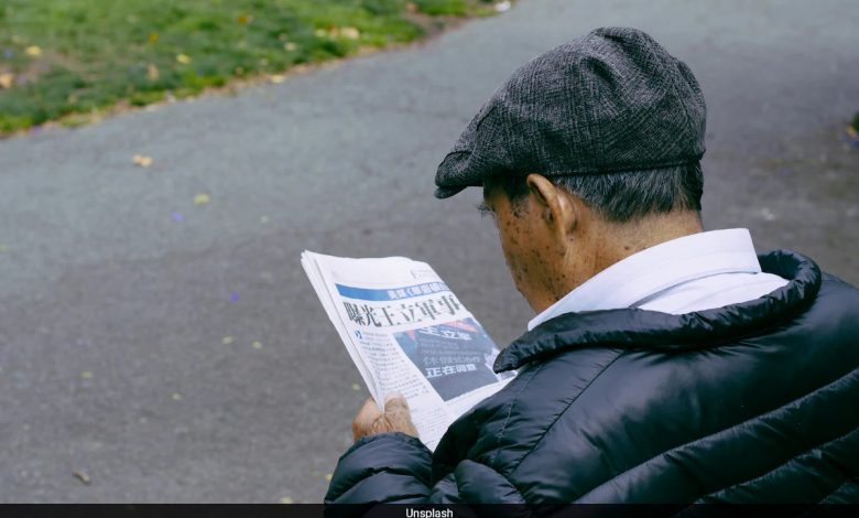
<instances>
[{"instance_id":1,"label":"elderly man in flat cap and black puffer jacket reading","mask_svg":"<svg viewBox=\"0 0 859 518\"><path fill-rule=\"evenodd\" d=\"M368 403L328 503L859 503L859 291L703 231L705 105L646 34L520 68L436 176L482 186L537 315L434 453Z\"/></svg>"}]
</instances>

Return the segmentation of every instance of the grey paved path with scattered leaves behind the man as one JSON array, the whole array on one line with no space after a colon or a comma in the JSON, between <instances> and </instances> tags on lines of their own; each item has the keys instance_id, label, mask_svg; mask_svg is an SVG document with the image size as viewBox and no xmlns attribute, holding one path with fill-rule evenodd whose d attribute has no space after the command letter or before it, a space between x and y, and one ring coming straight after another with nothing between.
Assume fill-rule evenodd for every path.
<instances>
[{"instance_id":1,"label":"grey paved path with scattered leaves behind the man","mask_svg":"<svg viewBox=\"0 0 859 518\"><path fill-rule=\"evenodd\" d=\"M363 392L301 250L423 258L515 337L529 311L479 193L436 202L434 170L520 63L608 24L703 84L706 224L859 282L855 2L524 0L280 85L0 142L0 500L319 500Z\"/></svg>"}]
</instances>

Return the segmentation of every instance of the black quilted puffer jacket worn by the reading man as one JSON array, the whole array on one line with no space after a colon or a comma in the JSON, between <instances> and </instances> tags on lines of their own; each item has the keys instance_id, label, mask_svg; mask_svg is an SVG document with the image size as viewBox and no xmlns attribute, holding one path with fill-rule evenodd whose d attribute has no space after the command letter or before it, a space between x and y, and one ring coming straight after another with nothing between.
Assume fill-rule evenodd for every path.
<instances>
[{"instance_id":1,"label":"black quilted puffer jacket worn by the reading man","mask_svg":"<svg viewBox=\"0 0 859 518\"><path fill-rule=\"evenodd\" d=\"M759 259L789 284L543 323L496 363L526 367L435 454L365 438L326 503L859 503L859 290L794 252Z\"/></svg>"}]
</instances>

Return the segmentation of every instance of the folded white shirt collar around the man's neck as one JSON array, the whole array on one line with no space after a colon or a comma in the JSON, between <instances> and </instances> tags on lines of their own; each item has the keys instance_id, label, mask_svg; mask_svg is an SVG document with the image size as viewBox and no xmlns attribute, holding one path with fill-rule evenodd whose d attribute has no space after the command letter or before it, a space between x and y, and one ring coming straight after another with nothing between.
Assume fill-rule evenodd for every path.
<instances>
[{"instance_id":1,"label":"folded white shirt collar around the man's neck","mask_svg":"<svg viewBox=\"0 0 859 518\"><path fill-rule=\"evenodd\" d=\"M667 288L718 273L760 273L746 228L679 237L616 262L528 323L529 331L564 313L630 307Z\"/></svg>"}]
</instances>

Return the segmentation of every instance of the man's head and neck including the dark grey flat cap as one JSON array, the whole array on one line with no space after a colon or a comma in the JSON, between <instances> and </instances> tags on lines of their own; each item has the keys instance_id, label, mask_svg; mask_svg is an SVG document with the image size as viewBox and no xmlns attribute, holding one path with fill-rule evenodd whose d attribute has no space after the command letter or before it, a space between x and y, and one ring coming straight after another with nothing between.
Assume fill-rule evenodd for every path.
<instances>
[{"instance_id":1,"label":"man's head and neck including the dark grey flat cap","mask_svg":"<svg viewBox=\"0 0 859 518\"><path fill-rule=\"evenodd\" d=\"M528 62L471 120L437 197L483 186L536 311L642 248L700 230L706 107L689 68L635 29Z\"/></svg>"}]
</instances>

